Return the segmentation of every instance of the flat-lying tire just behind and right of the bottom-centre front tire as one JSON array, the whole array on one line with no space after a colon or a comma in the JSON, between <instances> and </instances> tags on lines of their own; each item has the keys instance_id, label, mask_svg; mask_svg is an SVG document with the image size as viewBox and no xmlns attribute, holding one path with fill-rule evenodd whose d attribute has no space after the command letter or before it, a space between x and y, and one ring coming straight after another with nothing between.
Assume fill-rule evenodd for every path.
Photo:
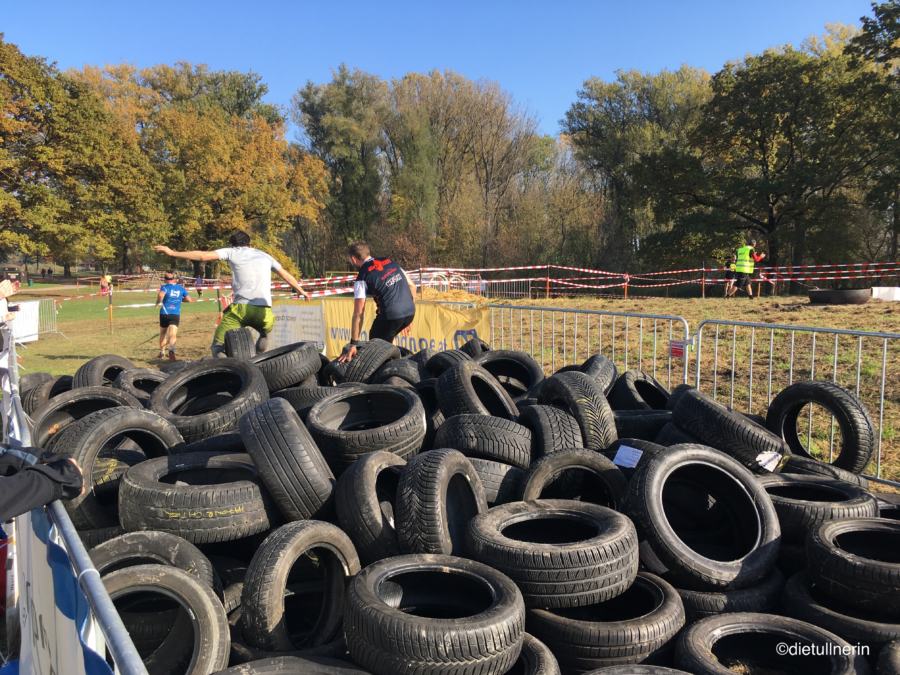
<instances>
[{"instance_id":1,"label":"flat-lying tire just behind and right of the bottom-centre front tire","mask_svg":"<svg viewBox=\"0 0 900 675\"><path fill-rule=\"evenodd\" d=\"M526 607L580 607L621 595L638 572L637 532L611 509L566 499L496 506L469 523L469 557L512 579Z\"/></svg>"}]
</instances>

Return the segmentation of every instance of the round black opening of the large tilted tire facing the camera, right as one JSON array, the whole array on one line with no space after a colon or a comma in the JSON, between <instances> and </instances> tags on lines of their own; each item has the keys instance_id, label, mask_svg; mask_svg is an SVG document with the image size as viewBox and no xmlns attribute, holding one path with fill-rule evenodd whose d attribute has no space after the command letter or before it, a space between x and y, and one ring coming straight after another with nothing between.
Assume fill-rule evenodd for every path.
<instances>
[{"instance_id":1,"label":"round black opening of the large tilted tire facing the camera, right","mask_svg":"<svg viewBox=\"0 0 900 675\"><path fill-rule=\"evenodd\" d=\"M676 468L663 484L662 503L675 536L710 560L740 560L760 540L755 502L743 485L717 467Z\"/></svg>"}]
</instances>

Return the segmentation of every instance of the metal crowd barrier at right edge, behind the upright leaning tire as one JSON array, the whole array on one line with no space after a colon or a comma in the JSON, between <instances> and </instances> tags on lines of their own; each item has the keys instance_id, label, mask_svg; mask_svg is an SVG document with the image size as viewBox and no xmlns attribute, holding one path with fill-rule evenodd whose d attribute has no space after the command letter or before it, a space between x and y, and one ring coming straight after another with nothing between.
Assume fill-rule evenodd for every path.
<instances>
[{"instance_id":1,"label":"metal crowd barrier at right edge, behind the upright leaning tire","mask_svg":"<svg viewBox=\"0 0 900 675\"><path fill-rule=\"evenodd\" d=\"M878 439L868 477L900 487L885 478L882 463L888 443L900 451L900 333L710 319L697 326L695 340L697 388L748 413L764 413L795 380L831 380L855 392ZM830 461L839 429L817 408L805 413L805 447ZM800 435L802 440L802 428Z\"/></svg>"}]
</instances>

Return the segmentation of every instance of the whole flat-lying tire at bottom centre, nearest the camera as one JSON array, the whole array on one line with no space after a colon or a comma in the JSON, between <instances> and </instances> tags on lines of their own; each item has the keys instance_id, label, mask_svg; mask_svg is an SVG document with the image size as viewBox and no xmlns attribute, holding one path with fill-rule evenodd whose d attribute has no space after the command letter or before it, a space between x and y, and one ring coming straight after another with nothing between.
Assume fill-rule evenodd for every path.
<instances>
[{"instance_id":1,"label":"whole flat-lying tire at bottom centre, nearest the camera","mask_svg":"<svg viewBox=\"0 0 900 675\"><path fill-rule=\"evenodd\" d=\"M346 607L350 655L377 675L505 673L522 650L522 594L474 560L381 560L350 582Z\"/></svg>"}]
</instances>

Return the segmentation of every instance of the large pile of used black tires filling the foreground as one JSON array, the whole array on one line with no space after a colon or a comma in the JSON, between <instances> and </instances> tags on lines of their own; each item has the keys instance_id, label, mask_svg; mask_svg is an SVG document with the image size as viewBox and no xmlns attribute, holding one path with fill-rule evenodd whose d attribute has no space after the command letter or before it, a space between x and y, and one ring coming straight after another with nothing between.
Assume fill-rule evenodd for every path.
<instances>
[{"instance_id":1,"label":"large pile of used black tires filling the foreground","mask_svg":"<svg viewBox=\"0 0 900 675\"><path fill-rule=\"evenodd\" d=\"M753 418L600 354L545 377L477 339L341 364L245 337L22 382L148 672L900 672L900 522L837 385Z\"/></svg>"}]
</instances>

